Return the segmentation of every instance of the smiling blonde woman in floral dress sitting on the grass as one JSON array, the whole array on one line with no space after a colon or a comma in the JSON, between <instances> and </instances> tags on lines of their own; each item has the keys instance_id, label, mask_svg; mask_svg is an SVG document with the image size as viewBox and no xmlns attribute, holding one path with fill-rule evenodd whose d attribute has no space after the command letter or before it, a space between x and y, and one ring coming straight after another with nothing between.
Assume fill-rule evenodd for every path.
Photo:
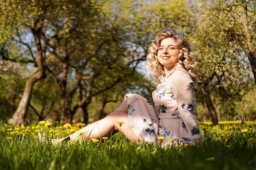
<instances>
[{"instance_id":1,"label":"smiling blonde woman in floral dress sitting on the grass","mask_svg":"<svg viewBox=\"0 0 256 170\"><path fill-rule=\"evenodd\" d=\"M150 77L157 81L152 93L155 106L140 95L126 94L114 112L69 135L70 139L78 140L81 133L84 138L98 139L119 131L139 143L157 143L159 136L164 137L163 147L202 142L195 111L198 63L189 43L180 35L162 31L152 40L148 52L146 68L152 68ZM66 138L52 139L52 143Z\"/></svg>"}]
</instances>

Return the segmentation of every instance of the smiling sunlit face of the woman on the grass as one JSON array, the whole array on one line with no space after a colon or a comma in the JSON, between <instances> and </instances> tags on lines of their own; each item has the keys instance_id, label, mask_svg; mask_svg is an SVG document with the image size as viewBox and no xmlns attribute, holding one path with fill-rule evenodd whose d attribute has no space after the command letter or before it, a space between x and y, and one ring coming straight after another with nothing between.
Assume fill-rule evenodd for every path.
<instances>
[{"instance_id":1,"label":"smiling sunlit face of the woman on the grass","mask_svg":"<svg viewBox=\"0 0 256 170\"><path fill-rule=\"evenodd\" d=\"M164 71L170 71L178 62L180 51L177 49L176 41L173 38L165 38L158 48L157 59L164 66ZM167 73L166 73L167 74Z\"/></svg>"}]
</instances>

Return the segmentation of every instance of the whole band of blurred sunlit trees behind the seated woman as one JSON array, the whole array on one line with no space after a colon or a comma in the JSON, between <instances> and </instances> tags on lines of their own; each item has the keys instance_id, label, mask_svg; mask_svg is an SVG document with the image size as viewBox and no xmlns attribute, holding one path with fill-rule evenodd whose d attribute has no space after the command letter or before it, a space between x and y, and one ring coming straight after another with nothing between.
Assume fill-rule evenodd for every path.
<instances>
[{"instance_id":1,"label":"whole band of blurred sunlit trees behind the seated woman","mask_svg":"<svg viewBox=\"0 0 256 170\"><path fill-rule=\"evenodd\" d=\"M124 93L152 101L147 46L163 29L189 40L200 62L200 121L256 118L252 0L0 3L4 122L88 123L115 110Z\"/></svg>"}]
</instances>

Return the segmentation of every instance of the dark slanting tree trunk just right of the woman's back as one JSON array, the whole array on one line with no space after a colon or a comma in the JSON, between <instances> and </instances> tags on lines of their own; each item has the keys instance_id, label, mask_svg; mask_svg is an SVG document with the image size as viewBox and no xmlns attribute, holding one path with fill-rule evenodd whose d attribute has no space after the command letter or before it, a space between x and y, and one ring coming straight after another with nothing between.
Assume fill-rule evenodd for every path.
<instances>
[{"instance_id":1,"label":"dark slanting tree trunk just right of the woman's back","mask_svg":"<svg viewBox=\"0 0 256 170\"><path fill-rule=\"evenodd\" d=\"M204 101L207 105L207 108L209 110L209 113L211 115L211 121L213 123L213 125L217 125L218 124L218 117L217 117L217 114L216 114L216 110L211 102L211 98L210 98L210 95L209 95L209 92L208 92L208 89L207 89L207 86L202 86L202 92L204 94Z\"/></svg>"}]
</instances>

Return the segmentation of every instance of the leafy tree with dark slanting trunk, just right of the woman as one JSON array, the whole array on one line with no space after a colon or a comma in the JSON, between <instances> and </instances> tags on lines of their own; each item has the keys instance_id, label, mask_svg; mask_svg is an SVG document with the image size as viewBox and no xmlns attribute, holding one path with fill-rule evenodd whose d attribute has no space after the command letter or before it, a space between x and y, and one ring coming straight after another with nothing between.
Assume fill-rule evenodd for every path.
<instances>
[{"instance_id":1,"label":"leafy tree with dark slanting trunk, just right of the woman","mask_svg":"<svg viewBox=\"0 0 256 170\"><path fill-rule=\"evenodd\" d=\"M200 58L200 70L204 83L202 92L213 124L218 124L218 119L212 100L216 97L222 99L220 103L223 108L229 108L231 111L234 109L235 100L242 99L238 94L246 88L247 81L250 79L247 75L248 62L243 51L233 42L228 31L224 31L230 27L230 23L226 22L226 16L231 15L230 11L225 15L221 12L227 9L222 8L226 2L200 1L198 3L200 4L198 27L194 37L194 40L197 40L194 46ZM211 95L211 92L214 94ZM231 99L234 96L236 98ZM229 102L231 100L232 102Z\"/></svg>"}]
</instances>

